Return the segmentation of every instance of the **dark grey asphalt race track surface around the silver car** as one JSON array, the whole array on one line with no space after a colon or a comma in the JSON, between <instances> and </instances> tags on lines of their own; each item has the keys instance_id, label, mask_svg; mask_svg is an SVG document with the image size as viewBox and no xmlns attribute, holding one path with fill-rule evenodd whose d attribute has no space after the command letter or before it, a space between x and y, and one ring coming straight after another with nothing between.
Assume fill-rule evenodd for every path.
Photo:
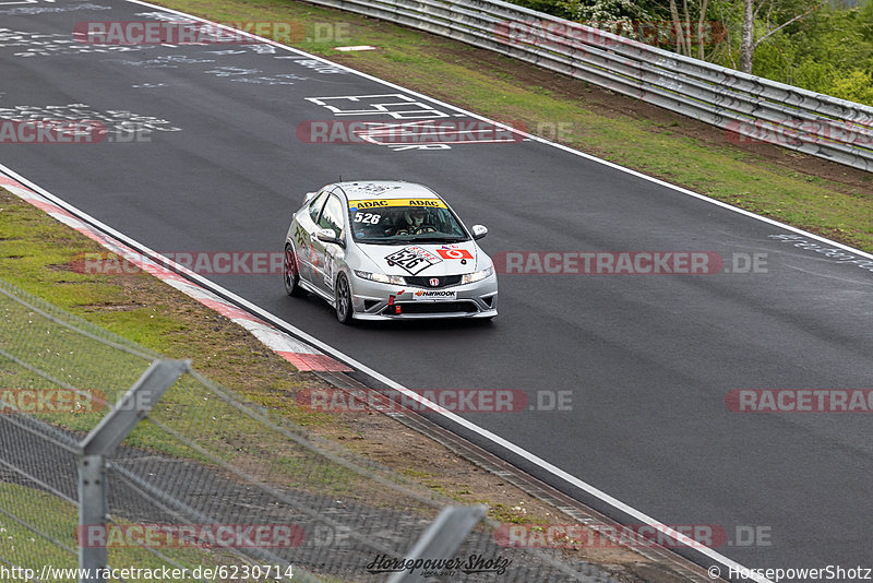
<instances>
[{"instance_id":1,"label":"dark grey asphalt race track surface around the silver car","mask_svg":"<svg viewBox=\"0 0 873 583\"><path fill-rule=\"evenodd\" d=\"M303 193L342 175L434 188L467 226L489 227L480 243L492 255L718 253L725 269L709 275L504 274L491 323L349 328L315 298L286 297L278 275L207 277L411 389L519 389L543 405L570 392L569 411L464 416L666 524L718 525L728 540L716 550L745 567L871 567L870 417L725 402L738 389L873 388L870 267L536 141L306 143L296 130L312 120L476 118L298 52L72 40L80 22L159 14L0 0L0 121L97 119L109 130L99 144L0 143L0 164L166 252L280 251ZM132 124L148 131L131 139ZM755 253L758 269L745 270ZM750 532L763 536L740 536Z\"/></svg>"}]
</instances>

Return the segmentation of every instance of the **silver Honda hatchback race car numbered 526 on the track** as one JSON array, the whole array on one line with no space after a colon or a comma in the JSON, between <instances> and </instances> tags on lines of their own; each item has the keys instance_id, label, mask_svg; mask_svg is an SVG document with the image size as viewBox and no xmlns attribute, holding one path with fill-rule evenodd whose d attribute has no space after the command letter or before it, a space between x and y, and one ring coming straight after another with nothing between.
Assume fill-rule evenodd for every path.
<instances>
[{"instance_id":1,"label":"silver Honda hatchback race car numbered 526 on the track","mask_svg":"<svg viewBox=\"0 0 873 583\"><path fill-rule=\"evenodd\" d=\"M498 314L498 278L477 239L431 189L402 181L337 182L310 192L285 237L289 296L307 291L358 320Z\"/></svg>"}]
</instances>

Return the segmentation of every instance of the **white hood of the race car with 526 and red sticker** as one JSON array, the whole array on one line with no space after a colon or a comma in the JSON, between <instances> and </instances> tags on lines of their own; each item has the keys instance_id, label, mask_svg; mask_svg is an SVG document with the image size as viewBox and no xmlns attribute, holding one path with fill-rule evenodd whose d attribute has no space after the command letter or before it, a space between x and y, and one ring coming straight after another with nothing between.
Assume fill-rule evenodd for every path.
<instances>
[{"instance_id":1,"label":"white hood of the race car with 526 and red sticker","mask_svg":"<svg viewBox=\"0 0 873 583\"><path fill-rule=\"evenodd\" d=\"M358 249L372 261L380 273L387 275L441 276L458 275L478 271L482 252L476 241L458 243L400 243L400 245L366 245ZM412 261L414 257L423 258ZM394 259L394 260L392 260Z\"/></svg>"}]
</instances>

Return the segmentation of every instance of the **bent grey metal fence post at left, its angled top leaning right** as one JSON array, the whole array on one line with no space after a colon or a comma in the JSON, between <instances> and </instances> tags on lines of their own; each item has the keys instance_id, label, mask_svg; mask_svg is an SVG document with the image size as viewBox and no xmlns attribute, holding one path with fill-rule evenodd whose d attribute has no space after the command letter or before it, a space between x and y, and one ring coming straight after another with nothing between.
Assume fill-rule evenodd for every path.
<instances>
[{"instance_id":1,"label":"bent grey metal fence post at left, its angled top leaning right","mask_svg":"<svg viewBox=\"0 0 873 583\"><path fill-rule=\"evenodd\" d=\"M107 567L106 520L108 490L106 457L145 417L167 389L187 370L190 360L155 360L80 443L79 567L80 583L104 583ZM93 544L94 537L104 544ZM85 573L88 573L85 575Z\"/></svg>"}]
</instances>

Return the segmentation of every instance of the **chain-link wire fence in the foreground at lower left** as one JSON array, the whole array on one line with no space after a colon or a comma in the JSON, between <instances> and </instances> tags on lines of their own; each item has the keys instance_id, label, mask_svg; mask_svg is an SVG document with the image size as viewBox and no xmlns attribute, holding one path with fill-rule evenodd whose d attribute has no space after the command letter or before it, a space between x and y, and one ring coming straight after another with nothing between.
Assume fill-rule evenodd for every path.
<instances>
[{"instance_id":1,"label":"chain-link wire fence in the foreground at lower left","mask_svg":"<svg viewBox=\"0 0 873 583\"><path fill-rule=\"evenodd\" d=\"M417 555L461 564L400 566L451 500L159 358L0 282L1 580L609 580L559 550L501 547L478 515ZM143 382L156 361L177 369L163 395ZM123 441L101 439L125 415ZM112 571L60 571L94 549Z\"/></svg>"}]
</instances>

